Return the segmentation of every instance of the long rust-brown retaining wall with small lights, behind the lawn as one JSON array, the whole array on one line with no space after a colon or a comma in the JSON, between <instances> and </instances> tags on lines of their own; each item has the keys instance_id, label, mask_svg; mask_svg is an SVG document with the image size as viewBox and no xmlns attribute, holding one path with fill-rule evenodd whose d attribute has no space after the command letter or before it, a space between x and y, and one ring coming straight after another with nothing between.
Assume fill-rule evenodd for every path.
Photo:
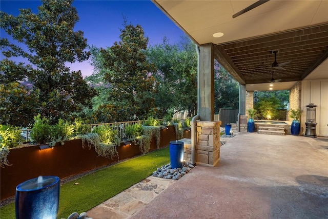
<instances>
[{"instance_id":1,"label":"long rust-brown retaining wall with small lights, behind the lawn","mask_svg":"<svg viewBox=\"0 0 328 219\"><path fill-rule=\"evenodd\" d=\"M160 146L166 147L170 141L176 140L174 126L160 131ZM185 130L184 138L190 138L190 131ZM152 139L151 151L155 150L156 140ZM55 175L65 178L75 174L110 165L141 154L138 145L117 146L118 157L105 158L99 156L94 147L82 148L81 140L66 141L65 145L40 150L39 146L28 146L10 149L8 161L11 166L1 168L1 200L15 195L16 186L39 175Z\"/></svg>"}]
</instances>

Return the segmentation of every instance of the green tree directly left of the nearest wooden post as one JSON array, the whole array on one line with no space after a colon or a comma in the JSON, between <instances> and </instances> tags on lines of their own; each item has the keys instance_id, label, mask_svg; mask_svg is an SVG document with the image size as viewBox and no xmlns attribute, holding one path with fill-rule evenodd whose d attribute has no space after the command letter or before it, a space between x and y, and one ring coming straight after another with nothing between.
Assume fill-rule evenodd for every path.
<instances>
[{"instance_id":1,"label":"green tree directly left of the nearest wooden post","mask_svg":"<svg viewBox=\"0 0 328 219\"><path fill-rule=\"evenodd\" d=\"M151 46L147 57L157 71L158 92L156 106L159 117L176 111L188 110L188 116L197 111L197 53L195 44L186 36L177 44L165 37L161 44Z\"/></svg>"}]
</instances>

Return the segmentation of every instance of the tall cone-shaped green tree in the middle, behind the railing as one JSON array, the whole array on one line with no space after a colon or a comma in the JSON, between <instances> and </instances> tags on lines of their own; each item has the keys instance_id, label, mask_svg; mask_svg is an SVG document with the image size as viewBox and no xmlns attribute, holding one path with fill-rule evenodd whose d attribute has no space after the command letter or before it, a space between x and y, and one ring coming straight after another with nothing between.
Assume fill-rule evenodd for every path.
<instances>
[{"instance_id":1,"label":"tall cone-shaped green tree in the middle, behind the railing","mask_svg":"<svg viewBox=\"0 0 328 219\"><path fill-rule=\"evenodd\" d=\"M119 42L101 48L100 57L93 58L100 65L96 78L104 78L108 90L108 102L94 113L98 122L127 121L133 114L141 119L155 113L156 86L151 74L155 68L145 55L148 37L140 25L126 21L119 37Z\"/></svg>"}]
</instances>

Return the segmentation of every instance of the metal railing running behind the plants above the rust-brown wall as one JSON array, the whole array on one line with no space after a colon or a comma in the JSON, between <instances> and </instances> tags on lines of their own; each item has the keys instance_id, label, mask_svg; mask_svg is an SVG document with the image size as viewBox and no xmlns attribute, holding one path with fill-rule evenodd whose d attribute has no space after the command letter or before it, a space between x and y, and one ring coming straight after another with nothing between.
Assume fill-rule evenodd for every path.
<instances>
[{"instance_id":1,"label":"metal railing running behind the plants above the rust-brown wall","mask_svg":"<svg viewBox=\"0 0 328 219\"><path fill-rule=\"evenodd\" d=\"M162 119L156 120L156 121L158 123L160 123L162 121ZM146 122L147 122L147 120L138 120L138 121L118 122L118 123L97 123L97 124L90 124L89 126L91 127L90 132L92 132L94 127L96 127L96 126L109 126L112 131L117 133L118 137L120 137L121 139L124 139L124 138L128 137L127 133L126 133L126 129L128 126L132 126L134 124L144 125ZM32 129L21 129L20 130L22 132L21 135L26 142L31 140L30 139L31 130Z\"/></svg>"}]
</instances>

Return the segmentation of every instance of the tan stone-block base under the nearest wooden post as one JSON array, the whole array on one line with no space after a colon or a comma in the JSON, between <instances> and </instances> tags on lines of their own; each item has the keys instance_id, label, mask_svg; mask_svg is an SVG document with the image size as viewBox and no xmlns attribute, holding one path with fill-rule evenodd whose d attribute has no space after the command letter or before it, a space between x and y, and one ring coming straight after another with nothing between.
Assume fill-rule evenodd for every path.
<instances>
[{"instance_id":1,"label":"tan stone-block base under the nearest wooden post","mask_svg":"<svg viewBox=\"0 0 328 219\"><path fill-rule=\"evenodd\" d=\"M196 164L214 167L220 161L221 121L199 121L196 125Z\"/></svg>"}]
</instances>

